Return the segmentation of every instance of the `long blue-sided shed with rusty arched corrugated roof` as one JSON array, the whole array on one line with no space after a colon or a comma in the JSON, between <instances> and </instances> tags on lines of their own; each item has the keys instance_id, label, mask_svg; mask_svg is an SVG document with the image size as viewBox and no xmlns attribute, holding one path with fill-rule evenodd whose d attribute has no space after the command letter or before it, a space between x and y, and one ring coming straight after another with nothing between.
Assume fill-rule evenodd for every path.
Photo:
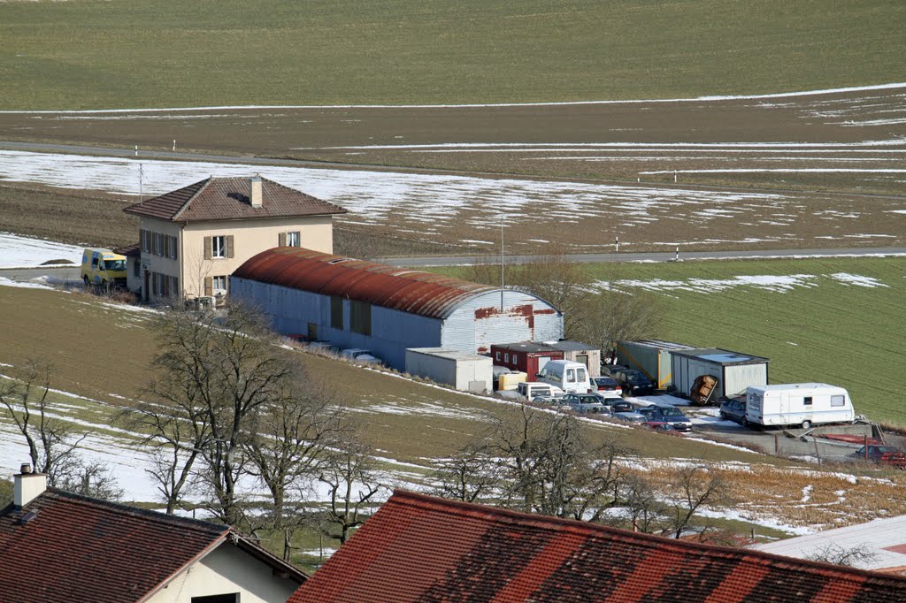
<instances>
[{"instance_id":1,"label":"long blue-sided shed with rusty arched corrugated roof","mask_svg":"<svg viewBox=\"0 0 906 603\"><path fill-rule=\"evenodd\" d=\"M230 288L279 332L370 349L399 370L407 348L486 354L493 343L559 340L564 330L563 313L530 293L298 247L255 255Z\"/></svg>"}]
</instances>

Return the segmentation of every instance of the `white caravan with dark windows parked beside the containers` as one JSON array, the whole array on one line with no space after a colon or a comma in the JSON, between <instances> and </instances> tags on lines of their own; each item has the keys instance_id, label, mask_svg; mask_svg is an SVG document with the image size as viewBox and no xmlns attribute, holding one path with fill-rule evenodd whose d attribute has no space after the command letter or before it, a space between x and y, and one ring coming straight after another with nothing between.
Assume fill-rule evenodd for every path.
<instances>
[{"instance_id":1,"label":"white caravan with dark windows parked beside the containers","mask_svg":"<svg viewBox=\"0 0 906 603\"><path fill-rule=\"evenodd\" d=\"M763 426L852 423L849 392L826 383L788 383L746 388L746 418Z\"/></svg>"}]
</instances>

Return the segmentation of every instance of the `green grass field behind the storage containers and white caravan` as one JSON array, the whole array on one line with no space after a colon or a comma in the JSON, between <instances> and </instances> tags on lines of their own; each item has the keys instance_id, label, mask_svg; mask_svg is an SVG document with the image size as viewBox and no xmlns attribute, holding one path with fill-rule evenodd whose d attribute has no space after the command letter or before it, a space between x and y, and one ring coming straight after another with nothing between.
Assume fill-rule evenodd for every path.
<instances>
[{"instance_id":1,"label":"green grass field behind the storage containers and white caravan","mask_svg":"<svg viewBox=\"0 0 906 603\"><path fill-rule=\"evenodd\" d=\"M857 413L906 426L906 259L834 258L623 266L618 279L726 281L737 276L815 275L810 286L720 292L661 289L670 311L662 339L770 359L772 383L828 382L850 390ZM597 270L609 278L607 267ZM846 284L847 273L886 286ZM769 279L770 280L770 279ZM713 287L712 287L713 289Z\"/></svg>"}]
</instances>

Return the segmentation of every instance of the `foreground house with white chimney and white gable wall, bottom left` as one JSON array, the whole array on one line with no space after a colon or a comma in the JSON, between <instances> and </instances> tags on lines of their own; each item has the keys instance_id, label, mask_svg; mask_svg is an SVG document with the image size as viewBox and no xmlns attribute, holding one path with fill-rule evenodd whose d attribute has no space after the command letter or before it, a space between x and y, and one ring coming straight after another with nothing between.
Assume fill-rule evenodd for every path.
<instances>
[{"instance_id":1,"label":"foreground house with white chimney and white gable wall, bottom left","mask_svg":"<svg viewBox=\"0 0 906 603\"><path fill-rule=\"evenodd\" d=\"M0 553L0 599L18 603L283 603L306 579L228 526L48 488L28 465Z\"/></svg>"}]
</instances>

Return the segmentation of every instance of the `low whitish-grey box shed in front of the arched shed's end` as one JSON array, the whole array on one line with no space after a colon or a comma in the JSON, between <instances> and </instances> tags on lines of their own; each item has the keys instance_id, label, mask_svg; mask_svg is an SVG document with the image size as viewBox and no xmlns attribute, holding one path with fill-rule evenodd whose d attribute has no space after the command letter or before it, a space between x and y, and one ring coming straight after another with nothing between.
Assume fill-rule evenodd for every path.
<instances>
[{"instance_id":1,"label":"low whitish-grey box shed in front of the arched shed's end","mask_svg":"<svg viewBox=\"0 0 906 603\"><path fill-rule=\"evenodd\" d=\"M455 349L410 348L406 350L406 372L416 377L446 383L460 391L477 394L493 390L490 357Z\"/></svg>"}]
</instances>

